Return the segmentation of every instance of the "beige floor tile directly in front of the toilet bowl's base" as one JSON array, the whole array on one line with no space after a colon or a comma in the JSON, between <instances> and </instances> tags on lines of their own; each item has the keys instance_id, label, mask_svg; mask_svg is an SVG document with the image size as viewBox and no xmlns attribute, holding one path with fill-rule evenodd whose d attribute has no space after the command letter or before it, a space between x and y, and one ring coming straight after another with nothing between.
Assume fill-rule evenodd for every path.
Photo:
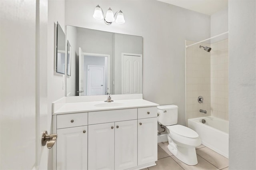
<instances>
[{"instance_id":1,"label":"beige floor tile directly in front of the toilet bowl's base","mask_svg":"<svg viewBox=\"0 0 256 170\"><path fill-rule=\"evenodd\" d=\"M218 170L215 166L210 164L208 161L204 160L201 156L197 156L198 164L194 166L189 166L175 156L171 156L184 170Z\"/></svg>"}]
</instances>

